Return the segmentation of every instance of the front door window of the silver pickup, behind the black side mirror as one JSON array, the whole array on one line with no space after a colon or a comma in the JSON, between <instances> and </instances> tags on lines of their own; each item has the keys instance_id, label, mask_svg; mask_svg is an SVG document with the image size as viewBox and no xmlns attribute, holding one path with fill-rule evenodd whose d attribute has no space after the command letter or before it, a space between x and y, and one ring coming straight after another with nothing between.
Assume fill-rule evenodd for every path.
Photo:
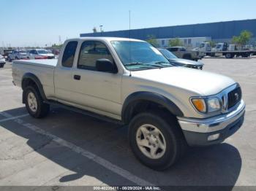
<instances>
[{"instance_id":1,"label":"front door window of the silver pickup, behind the black side mirror","mask_svg":"<svg viewBox=\"0 0 256 191\"><path fill-rule=\"evenodd\" d=\"M101 58L106 58L113 62L112 55L105 44L94 41L83 42L78 59L78 69L96 71L96 61Z\"/></svg>"}]
</instances>

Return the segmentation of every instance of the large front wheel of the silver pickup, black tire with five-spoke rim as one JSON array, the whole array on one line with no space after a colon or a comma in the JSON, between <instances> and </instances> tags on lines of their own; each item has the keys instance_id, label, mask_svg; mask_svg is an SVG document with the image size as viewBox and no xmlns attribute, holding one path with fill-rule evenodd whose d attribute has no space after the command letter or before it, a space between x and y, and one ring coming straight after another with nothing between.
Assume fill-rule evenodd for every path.
<instances>
[{"instance_id":1,"label":"large front wheel of the silver pickup, black tire with five-spoke rim","mask_svg":"<svg viewBox=\"0 0 256 191\"><path fill-rule=\"evenodd\" d=\"M170 119L170 117L168 118ZM167 118L165 117L165 119ZM145 128L148 130L148 134L143 130ZM154 131L150 131L152 128ZM156 131L155 128L160 132L157 138L153 137ZM149 136L150 134L151 136ZM156 142L154 143L154 141ZM143 146L141 146L140 143L142 143ZM154 114L153 112L141 113L132 119L129 123L129 144L141 163L157 171L165 170L169 168L170 165L176 163L187 148L187 142L176 120L167 122L164 120L164 117L161 117L159 114ZM144 147L144 145L146 145L146 147ZM165 146L165 149L161 149L161 145ZM154 157L152 157L149 147L151 147L153 153L157 153L157 155L153 155ZM154 150L156 150L155 147L158 148L157 152L154 152Z\"/></svg>"}]
</instances>

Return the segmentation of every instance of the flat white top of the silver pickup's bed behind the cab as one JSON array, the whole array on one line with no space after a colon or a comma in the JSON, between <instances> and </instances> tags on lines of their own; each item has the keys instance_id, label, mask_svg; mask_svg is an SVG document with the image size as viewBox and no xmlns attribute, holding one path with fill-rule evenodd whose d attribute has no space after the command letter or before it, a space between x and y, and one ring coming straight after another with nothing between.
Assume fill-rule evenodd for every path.
<instances>
[{"instance_id":1,"label":"flat white top of the silver pickup's bed behind the cab","mask_svg":"<svg viewBox=\"0 0 256 191\"><path fill-rule=\"evenodd\" d=\"M42 60L15 60L13 63L29 64L54 69L57 66L58 59L42 59Z\"/></svg>"}]
</instances>

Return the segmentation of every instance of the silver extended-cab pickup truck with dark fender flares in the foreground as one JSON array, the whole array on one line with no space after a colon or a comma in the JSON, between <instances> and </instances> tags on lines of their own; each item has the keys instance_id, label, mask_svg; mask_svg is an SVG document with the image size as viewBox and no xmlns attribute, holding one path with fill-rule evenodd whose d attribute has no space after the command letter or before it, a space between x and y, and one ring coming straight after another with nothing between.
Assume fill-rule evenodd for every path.
<instances>
[{"instance_id":1,"label":"silver extended-cab pickup truck with dark fender flares in the foreground","mask_svg":"<svg viewBox=\"0 0 256 191\"><path fill-rule=\"evenodd\" d=\"M187 145L220 143L244 122L233 79L173 66L137 39L69 39L59 60L14 61L12 77L32 117L57 104L127 124L135 156L157 170L175 163Z\"/></svg>"}]
</instances>

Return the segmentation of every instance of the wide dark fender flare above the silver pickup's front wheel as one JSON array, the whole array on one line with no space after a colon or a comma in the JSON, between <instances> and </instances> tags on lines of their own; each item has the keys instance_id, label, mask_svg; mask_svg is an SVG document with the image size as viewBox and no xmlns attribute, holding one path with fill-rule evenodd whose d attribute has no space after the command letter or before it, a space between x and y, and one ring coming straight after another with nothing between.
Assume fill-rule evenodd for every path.
<instances>
[{"instance_id":1,"label":"wide dark fender flare above the silver pickup's front wheel","mask_svg":"<svg viewBox=\"0 0 256 191\"><path fill-rule=\"evenodd\" d=\"M132 106L138 101L152 101L156 104L164 106L168 111L178 117L184 116L181 109L170 101L170 99L165 98L163 95L159 95L157 93L151 92L136 92L129 95L126 100L124 101L122 112L121 112L121 119L125 123L129 120L129 114L132 112Z\"/></svg>"}]
</instances>

